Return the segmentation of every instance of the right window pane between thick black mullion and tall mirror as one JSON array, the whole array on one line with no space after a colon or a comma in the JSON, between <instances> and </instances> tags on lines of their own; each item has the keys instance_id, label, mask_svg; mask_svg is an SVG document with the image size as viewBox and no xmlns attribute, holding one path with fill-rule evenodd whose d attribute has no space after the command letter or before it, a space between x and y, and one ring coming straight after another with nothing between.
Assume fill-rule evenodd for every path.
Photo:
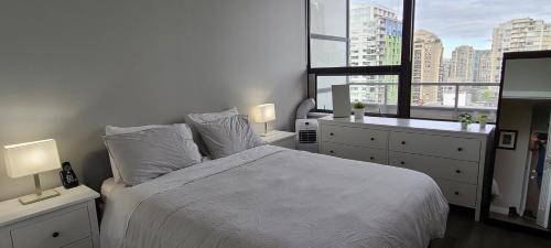
<instances>
[{"instance_id":1,"label":"right window pane between thick black mullion and tall mirror","mask_svg":"<svg viewBox=\"0 0 551 248\"><path fill-rule=\"evenodd\" d=\"M503 53L551 48L551 33L545 39L543 32L551 17L540 11L549 2L488 4L415 1L411 117L454 120L479 112L495 121Z\"/></svg>"}]
</instances>

